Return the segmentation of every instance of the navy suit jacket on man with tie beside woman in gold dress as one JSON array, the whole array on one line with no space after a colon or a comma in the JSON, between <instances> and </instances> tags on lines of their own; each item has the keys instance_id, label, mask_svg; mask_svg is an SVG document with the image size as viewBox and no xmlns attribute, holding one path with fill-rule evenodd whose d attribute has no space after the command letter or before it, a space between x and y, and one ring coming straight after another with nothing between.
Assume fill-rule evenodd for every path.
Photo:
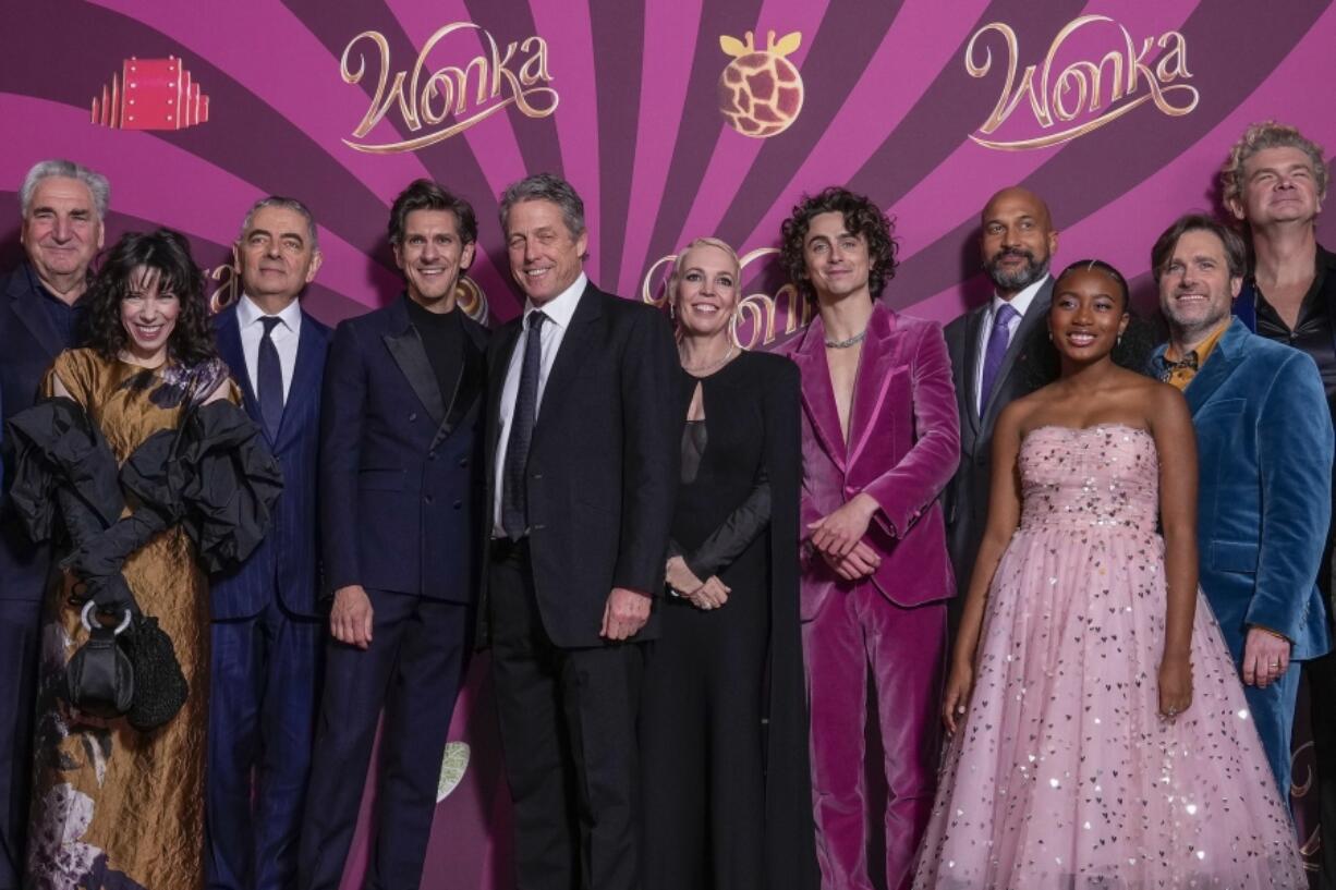
<instances>
[{"instance_id":1,"label":"navy suit jacket on man with tie beside woman in gold dress","mask_svg":"<svg viewBox=\"0 0 1336 890\"><path fill-rule=\"evenodd\" d=\"M214 318L218 351L242 388L246 413L263 429L255 384L246 370L236 306ZM330 329L302 313L297 363L278 438L269 446L283 469L283 493L270 516L270 531L239 568L211 579L212 617L238 619L259 615L274 597L289 612L319 615L319 528L315 512L317 461L321 442L321 380L329 353Z\"/></svg>"}]
</instances>

